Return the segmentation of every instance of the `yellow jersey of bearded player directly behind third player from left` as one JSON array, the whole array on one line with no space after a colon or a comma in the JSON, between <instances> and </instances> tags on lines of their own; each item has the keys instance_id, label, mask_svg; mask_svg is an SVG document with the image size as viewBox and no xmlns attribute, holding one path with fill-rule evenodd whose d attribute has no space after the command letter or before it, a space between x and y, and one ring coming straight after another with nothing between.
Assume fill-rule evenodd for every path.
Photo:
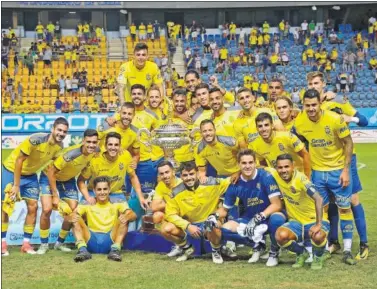
<instances>
[{"instance_id":1,"label":"yellow jersey of bearded player directly behind third player from left","mask_svg":"<svg viewBox=\"0 0 377 289\"><path fill-rule=\"evenodd\" d=\"M105 151L105 142L106 142L106 135L110 132L117 132L121 135L121 148L123 150L128 150L130 147L134 149L140 148L140 142L138 140L137 134L139 129L134 125L129 125L126 129L123 129L119 124L120 121L114 125L114 127L110 127L107 122L104 122L100 125L97 129L98 131L98 139L99 139L99 147L101 151Z\"/></svg>"}]
</instances>

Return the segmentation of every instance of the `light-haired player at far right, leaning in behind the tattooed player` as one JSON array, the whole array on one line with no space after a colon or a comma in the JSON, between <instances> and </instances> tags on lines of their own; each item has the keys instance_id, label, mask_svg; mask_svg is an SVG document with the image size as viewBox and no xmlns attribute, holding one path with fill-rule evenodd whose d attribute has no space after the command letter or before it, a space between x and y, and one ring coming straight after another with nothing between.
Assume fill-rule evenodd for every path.
<instances>
[{"instance_id":1,"label":"light-haired player at far right, leaning in behind the tattooed player","mask_svg":"<svg viewBox=\"0 0 377 289\"><path fill-rule=\"evenodd\" d=\"M347 123L354 122L358 126L365 127L368 125L368 119L360 114L352 105L344 100L342 97L334 95L332 92L325 92L326 83L324 81L323 73L313 72L307 75L308 87L316 89L321 97L321 109L332 110L338 114L341 114ZM367 226L365 219L365 212L363 205L360 203L359 192L362 191L359 174L357 172L357 159L356 151L353 150L352 162L352 198L351 208L355 219L357 232L360 236L360 250L356 256L356 259L363 260L368 257L369 247L367 238ZM329 252L335 252L340 249L338 241L338 223L339 214L336 205L330 203L329 205L329 220L330 220L330 234L329 234Z\"/></svg>"}]
</instances>

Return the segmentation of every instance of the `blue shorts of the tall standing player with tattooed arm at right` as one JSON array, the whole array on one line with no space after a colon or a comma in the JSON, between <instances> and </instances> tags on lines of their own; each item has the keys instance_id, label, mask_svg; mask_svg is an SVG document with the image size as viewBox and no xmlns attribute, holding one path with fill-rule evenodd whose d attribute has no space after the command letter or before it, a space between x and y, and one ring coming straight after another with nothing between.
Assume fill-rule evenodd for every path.
<instances>
[{"instance_id":1,"label":"blue shorts of the tall standing player with tattooed arm at right","mask_svg":"<svg viewBox=\"0 0 377 289\"><path fill-rule=\"evenodd\" d=\"M342 188L339 184L341 173L342 169L328 172L312 170L312 182L321 194L324 206L330 203L331 194L339 208L347 209L351 206L352 177L350 176L350 184Z\"/></svg>"}]
</instances>

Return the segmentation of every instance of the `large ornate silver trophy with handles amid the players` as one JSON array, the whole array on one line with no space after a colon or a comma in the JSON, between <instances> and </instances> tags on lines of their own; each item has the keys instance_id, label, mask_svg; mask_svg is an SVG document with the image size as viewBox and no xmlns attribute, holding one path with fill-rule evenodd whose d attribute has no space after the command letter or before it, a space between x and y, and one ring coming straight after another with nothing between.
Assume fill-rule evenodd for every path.
<instances>
[{"instance_id":1,"label":"large ornate silver trophy with handles amid the players","mask_svg":"<svg viewBox=\"0 0 377 289\"><path fill-rule=\"evenodd\" d=\"M147 147L157 145L164 151L165 159L174 166L179 167L179 163L174 159L174 150L179 149L184 145L191 144L191 150L199 142L194 140L194 135L199 131L199 128L194 128L190 132L188 128L173 123L171 120L167 124L159 126L157 129L150 132L147 128L141 128L138 131L139 141ZM142 141L141 136L146 134L147 141Z\"/></svg>"}]
</instances>

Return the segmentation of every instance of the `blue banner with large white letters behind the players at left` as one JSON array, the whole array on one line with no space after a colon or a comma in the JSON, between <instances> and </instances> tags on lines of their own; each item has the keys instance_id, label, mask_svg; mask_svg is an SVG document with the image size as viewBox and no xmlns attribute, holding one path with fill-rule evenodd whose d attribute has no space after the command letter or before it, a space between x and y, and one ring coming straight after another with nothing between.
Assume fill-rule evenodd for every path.
<instances>
[{"instance_id":1,"label":"blue banner with large white letters behind the players at left","mask_svg":"<svg viewBox=\"0 0 377 289\"><path fill-rule=\"evenodd\" d=\"M5 134L49 132L58 117L68 120L70 132L96 129L109 114L3 114L1 131Z\"/></svg>"}]
</instances>

